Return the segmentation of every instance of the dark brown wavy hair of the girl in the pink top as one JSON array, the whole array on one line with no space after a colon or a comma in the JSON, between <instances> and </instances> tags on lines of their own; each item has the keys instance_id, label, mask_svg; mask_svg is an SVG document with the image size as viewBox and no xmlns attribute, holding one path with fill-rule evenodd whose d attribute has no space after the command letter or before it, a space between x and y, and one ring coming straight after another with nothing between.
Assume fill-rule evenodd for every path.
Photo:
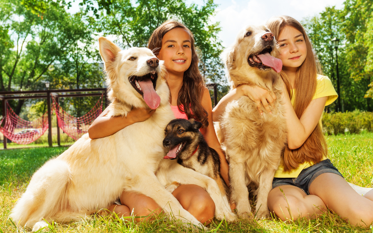
<instances>
[{"instance_id":1,"label":"dark brown wavy hair of the girl in the pink top","mask_svg":"<svg viewBox=\"0 0 373 233\"><path fill-rule=\"evenodd\" d=\"M199 59L195 51L192 32L184 24L176 20L167 20L153 31L148 42L148 48L157 56L162 48L163 36L174 28L183 28L189 33L192 50L192 62L189 68L184 72L183 85L178 95L178 108L181 112L184 112L189 119L195 118L202 123L202 127L207 127L209 125L207 119L208 113L201 104L206 85L198 69ZM184 106L184 109L181 108L181 105Z\"/></svg>"}]
</instances>

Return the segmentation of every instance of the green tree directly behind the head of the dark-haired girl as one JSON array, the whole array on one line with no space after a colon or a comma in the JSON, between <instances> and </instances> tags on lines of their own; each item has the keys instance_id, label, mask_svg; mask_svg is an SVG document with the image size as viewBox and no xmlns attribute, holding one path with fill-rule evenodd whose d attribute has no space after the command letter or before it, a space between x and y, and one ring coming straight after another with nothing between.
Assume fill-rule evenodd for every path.
<instances>
[{"instance_id":1,"label":"green tree directly behind the head of the dark-haired girl","mask_svg":"<svg viewBox=\"0 0 373 233\"><path fill-rule=\"evenodd\" d=\"M93 2L84 1L92 10ZM82 3L82 4L83 4ZM88 18L95 30L104 35L116 35L121 47L146 47L151 33L167 19L184 23L194 34L200 56L200 70L207 82L217 82L220 91L226 91L219 22L212 23L217 5L208 0L204 5L186 4L184 0L113 0L98 1L99 14Z\"/></svg>"}]
</instances>

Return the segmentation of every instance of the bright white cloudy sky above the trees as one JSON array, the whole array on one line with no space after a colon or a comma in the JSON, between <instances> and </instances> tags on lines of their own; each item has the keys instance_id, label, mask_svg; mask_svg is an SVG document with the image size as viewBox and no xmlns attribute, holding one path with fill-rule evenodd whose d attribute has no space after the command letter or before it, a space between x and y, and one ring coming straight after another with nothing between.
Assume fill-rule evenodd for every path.
<instances>
[{"instance_id":1,"label":"bright white cloudy sky above the trees","mask_svg":"<svg viewBox=\"0 0 373 233\"><path fill-rule=\"evenodd\" d=\"M79 2L76 0L68 10L76 13ZM135 0L133 0L135 2ZM186 0L187 3L203 4L203 0ZM233 43L238 31L248 24L264 24L272 16L288 15L298 21L305 17L322 12L327 6L342 9L345 0L214 0L217 7L213 22L220 22L222 31L219 33L222 45L227 47ZM115 37L108 37L115 40Z\"/></svg>"}]
</instances>

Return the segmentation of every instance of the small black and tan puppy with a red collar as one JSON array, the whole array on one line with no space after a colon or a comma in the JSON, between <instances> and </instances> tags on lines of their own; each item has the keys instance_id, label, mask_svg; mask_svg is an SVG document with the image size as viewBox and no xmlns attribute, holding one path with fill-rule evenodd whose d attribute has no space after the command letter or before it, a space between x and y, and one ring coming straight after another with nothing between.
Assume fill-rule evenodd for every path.
<instances>
[{"instance_id":1,"label":"small black and tan puppy with a red collar","mask_svg":"<svg viewBox=\"0 0 373 233\"><path fill-rule=\"evenodd\" d=\"M170 151L165 159L175 160L184 167L193 169L201 174L209 176L216 181L222 193L225 193L220 180L219 154L207 145L200 132L201 122L194 119L175 119L170 121L164 130L163 146L169 147ZM173 182L166 189L173 192L179 183Z\"/></svg>"}]
</instances>

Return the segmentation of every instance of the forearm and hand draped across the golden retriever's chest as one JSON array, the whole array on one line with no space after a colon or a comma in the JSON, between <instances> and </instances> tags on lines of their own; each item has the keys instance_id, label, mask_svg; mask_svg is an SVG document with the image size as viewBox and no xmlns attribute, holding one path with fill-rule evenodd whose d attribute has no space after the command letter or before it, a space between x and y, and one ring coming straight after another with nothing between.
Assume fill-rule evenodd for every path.
<instances>
[{"instance_id":1,"label":"forearm and hand draped across the golden retriever's chest","mask_svg":"<svg viewBox=\"0 0 373 233\"><path fill-rule=\"evenodd\" d=\"M263 110L261 109L262 104L266 111L272 114L269 104L273 107L273 101L276 100L276 95L271 95L266 89L260 88L256 85L243 84L229 91L228 94L226 94L214 107L214 110L212 111L213 121L220 121L220 117L224 113L227 104L231 101L238 100L242 95L246 95L257 104L258 111L261 115L263 115Z\"/></svg>"}]
</instances>

